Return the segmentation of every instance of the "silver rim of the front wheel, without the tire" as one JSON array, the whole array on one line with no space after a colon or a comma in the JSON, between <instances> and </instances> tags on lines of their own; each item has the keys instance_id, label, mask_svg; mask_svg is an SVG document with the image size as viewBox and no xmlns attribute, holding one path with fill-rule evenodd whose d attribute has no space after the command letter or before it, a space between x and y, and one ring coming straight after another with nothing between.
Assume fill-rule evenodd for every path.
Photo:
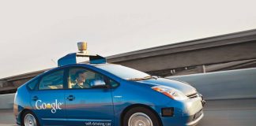
<instances>
[{"instance_id":1,"label":"silver rim of the front wheel, without the tire","mask_svg":"<svg viewBox=\"0 0 256 126\"><path fill-rule=\"evenodd\" d=\"M128 120L128 126L152 126L152 120L145 113L134 113Z\"/></svg>"}]
</instances>

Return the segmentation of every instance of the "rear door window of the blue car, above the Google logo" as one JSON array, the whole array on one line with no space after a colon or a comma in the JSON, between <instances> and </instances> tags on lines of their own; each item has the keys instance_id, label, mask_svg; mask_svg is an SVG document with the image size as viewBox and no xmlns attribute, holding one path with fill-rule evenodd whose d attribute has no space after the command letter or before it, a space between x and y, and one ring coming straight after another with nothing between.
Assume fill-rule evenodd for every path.
<instances>
[{"instance_id":1,"label":"rear door window of the blue car, above the Google logo","mask_svg":"<svg viewBox=\"0 0 256 126\"><path fill-rule=\"evenodd\" d=\"M55 90L63 88L64 70L51 72L40 80L39 90Z\"/></svg>"}]
</instances>

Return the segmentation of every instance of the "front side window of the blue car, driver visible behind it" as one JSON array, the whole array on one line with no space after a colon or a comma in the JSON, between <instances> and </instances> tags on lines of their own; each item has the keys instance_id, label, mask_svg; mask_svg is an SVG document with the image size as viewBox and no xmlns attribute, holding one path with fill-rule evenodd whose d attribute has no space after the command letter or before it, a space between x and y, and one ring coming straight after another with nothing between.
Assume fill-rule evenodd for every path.
<instances>
[{"instance_id":1,"label":"front side window of the blue car, driver visible behind it","mask_svg":"<svg viewBox=\"0 0 256 126\"><path fill-rule=\"evenodd\" d=\"M116 87L118 83L108 79L98 72L85 68L72 68L68 76L68 88L94 88L94 87Z\"/></svg>"}]
</instances>

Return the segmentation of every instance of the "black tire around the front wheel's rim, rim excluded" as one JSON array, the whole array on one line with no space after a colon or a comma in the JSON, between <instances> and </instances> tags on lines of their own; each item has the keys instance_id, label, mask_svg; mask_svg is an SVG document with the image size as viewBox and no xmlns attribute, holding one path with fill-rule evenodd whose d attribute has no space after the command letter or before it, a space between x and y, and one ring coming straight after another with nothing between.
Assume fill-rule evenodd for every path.
<instances>
[{"instance_id":1,"label":"black tire around the front wheel's rim, rim excluded","mask_svg":"<svg viewBox=\"0 0 256 126\"><path fill-rule=\"evenodd\" d=\"M129 123L130 117L135 115L136 113L143 113L147 115L152 120L153 126L161 126L158 117L156 117L156 114L153 113L152 110L147 109L145 107L135 107L128 110L123 117L122 126L129 126L128 123Z\"/></svg>"}]
</instances>

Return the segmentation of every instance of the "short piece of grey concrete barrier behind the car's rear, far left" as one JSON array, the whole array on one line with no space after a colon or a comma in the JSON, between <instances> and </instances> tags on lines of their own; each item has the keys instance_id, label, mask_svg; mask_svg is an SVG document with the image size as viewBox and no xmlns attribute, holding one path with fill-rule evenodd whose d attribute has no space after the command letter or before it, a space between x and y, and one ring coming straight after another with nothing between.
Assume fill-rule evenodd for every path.
<instances>
[{"instance_id":1,"label":"short piece of grey concrete barrier behind the car's rear, far left","mask_svg":"<svg viewBox=\"0 0 256 126\"><path fill-rule=\"evenodd\" d=\"M0 109L13 109L15 94L0 95Z\"/></svg>"}]
</instances>

